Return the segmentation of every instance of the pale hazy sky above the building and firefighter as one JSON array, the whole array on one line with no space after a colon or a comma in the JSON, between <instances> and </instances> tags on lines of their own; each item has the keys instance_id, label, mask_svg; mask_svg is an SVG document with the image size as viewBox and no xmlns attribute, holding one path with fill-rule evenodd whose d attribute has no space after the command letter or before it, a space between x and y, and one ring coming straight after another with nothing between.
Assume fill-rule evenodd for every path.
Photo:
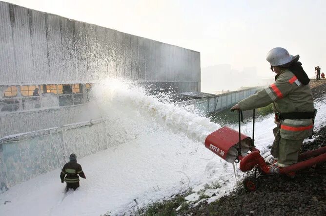
<instances>
[{"instance_id":1,"label":"pale hazy sky above the building and firefighter","mask_svg":"<svg viewBox=\"0 0 326 216\"><path fill-rule=\"evenodd\" d=\"M201 52L202 68L256 66L274 47L326 69L326 0L6 0ZM325 70L326 71L326 70Z\"/></svg>"}]
</instances>

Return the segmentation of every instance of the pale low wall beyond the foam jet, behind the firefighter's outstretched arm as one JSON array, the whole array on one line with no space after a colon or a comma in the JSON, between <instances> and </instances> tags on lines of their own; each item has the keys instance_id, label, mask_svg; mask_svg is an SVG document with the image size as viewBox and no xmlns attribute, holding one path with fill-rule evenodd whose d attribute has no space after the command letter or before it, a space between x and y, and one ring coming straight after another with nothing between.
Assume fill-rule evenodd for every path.
<instances>
[{"instance_id":1,"label":"pale low wall beyond the foam jet, behind the firefighter's outstretched arm","mask_svg":"<svg viewBox=\"0 0 326 216\"><path fill-rule=\"evenodd\" d=\"M183 101L179 102L178 104L181 106L192 106L201 113L218 112L235 105L242 99L255 94L256 91L260 89L261 88L252 88L247 90L231 91L212 97Z\"/></svg>"}]
</instances>

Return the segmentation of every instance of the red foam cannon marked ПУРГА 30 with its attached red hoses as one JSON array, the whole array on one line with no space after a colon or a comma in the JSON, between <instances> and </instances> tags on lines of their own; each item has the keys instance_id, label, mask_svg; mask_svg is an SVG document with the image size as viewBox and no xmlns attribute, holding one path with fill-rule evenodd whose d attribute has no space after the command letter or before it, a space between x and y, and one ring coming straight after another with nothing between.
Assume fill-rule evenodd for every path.
<instances>
[{"instance_id":1,"label":"red foam cannon marked \u041f\u0423\u0420\u0413\u0410 30 with its attached red hoses","mask_svg":"<svg viewBox=\"0 0 326 216\"><path fill-rule=\"evenodd\" d=\"M299 155L298 163L273 169L252 144L250 137L227 126L209 134L205 140L205 147L227 162L240 162L240 170L243 172L259 167L265 174L289 174L326 161L325 146Z\"/></svg>"}]
</instances>

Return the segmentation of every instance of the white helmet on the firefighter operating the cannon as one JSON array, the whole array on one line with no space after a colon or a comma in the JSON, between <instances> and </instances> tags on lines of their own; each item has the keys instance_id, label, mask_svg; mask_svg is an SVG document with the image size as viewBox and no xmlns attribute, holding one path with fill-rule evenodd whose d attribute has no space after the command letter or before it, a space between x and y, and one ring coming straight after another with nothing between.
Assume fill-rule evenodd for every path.
<instances>
[{"instance_id":1,"label":"white helmet on the firefighter operating the cannon","mask_svg":"<svg viewBox=\"0 0 326 216\"><path fill-rule=\"evenodd\" d=\"M268 52L266 60L271 66L282 66L290 62L298 61L299 55L290 55L284 48L276 47Z\"/></svg>"}]
</instances>

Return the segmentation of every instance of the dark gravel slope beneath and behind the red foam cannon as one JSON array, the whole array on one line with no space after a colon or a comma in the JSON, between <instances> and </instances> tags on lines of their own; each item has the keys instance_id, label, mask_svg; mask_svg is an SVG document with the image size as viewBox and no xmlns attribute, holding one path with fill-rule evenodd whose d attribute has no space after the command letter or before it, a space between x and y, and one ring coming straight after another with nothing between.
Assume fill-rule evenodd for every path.
<instances>
[{"instance_id":1,"label":"dark gravel slope beneath and behind the red foam cannon","mask_svg":"<svg viewBox=\"0 0 326 216\"><path fill-rule=\"evenodd\" d=\"M311 81L315 101L326 95L326 81ZM326 126L315 132L318 137L302 146L302 152L326 146ZM196 216L288 216L326 215L326 167L325 163L298 172L294 178L269 176L259 179L254 192L246 192L240 183L228 196L207 204L189 208L185 215Z\"/></svg>"}]
</instances>

